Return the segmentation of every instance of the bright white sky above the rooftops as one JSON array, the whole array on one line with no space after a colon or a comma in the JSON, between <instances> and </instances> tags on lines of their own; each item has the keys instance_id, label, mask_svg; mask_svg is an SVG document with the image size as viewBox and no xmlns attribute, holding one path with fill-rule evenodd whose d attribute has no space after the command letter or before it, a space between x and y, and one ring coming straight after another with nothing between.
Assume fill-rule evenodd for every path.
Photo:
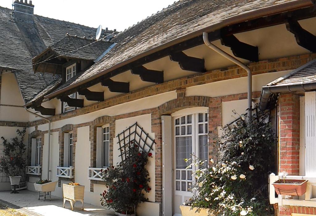
<instances>
[{"instance_id":1,"label":"bright white sky above the rooftops","mask_svg":"<svg viewBox=\"0 0 316 216\"><path fill-rule=\"evenodd\" d=\"M24 0L23 0L24 1ZM29 1L29 0L28 0ZM34 14L109 30L124 29L176 0L33 0ZM12 9L12 0L0 0Z\"/></svg>"}]
</instances>

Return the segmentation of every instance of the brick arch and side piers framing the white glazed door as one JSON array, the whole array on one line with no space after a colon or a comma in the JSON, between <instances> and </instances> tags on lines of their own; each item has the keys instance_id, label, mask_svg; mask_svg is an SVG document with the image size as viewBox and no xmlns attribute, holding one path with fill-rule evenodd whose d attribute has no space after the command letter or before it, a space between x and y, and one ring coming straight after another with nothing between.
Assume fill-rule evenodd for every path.
<instances>
[{"instance_id":1,"label":"brick arch and side piers framing the white glazed door","mask_svg":"<svg viewBox=\"0 0 316 216\"><path fill-rule=\"evenodd\" d=\"M205 96L185 97L185 89L177 90L177 99L168 101L152 112L152 132L155 133L155 201L162 202L162 128L161 116L190 107L204 106L209 108L209 157L216 157L217 148L212 145L217 135L217 126L222 124L222 101L220 98Z\"/></svg>"}]
</instances>

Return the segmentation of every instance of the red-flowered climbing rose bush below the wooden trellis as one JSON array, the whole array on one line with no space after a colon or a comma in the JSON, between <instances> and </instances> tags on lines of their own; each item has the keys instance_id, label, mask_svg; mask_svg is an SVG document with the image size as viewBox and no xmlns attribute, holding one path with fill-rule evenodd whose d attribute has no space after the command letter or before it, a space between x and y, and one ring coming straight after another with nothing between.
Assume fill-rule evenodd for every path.
<instances>
[{"instance_id":1,"label":"red-flowered climbing rose bush below the wooden trellis","mask_svg":"<svg viewBox=\"0 0 316 216\"><path fill-rule=\"evenodd\" d=\"M107 190L101 195L101 204L122 214L133 214L141 202L148 201L144 192L149 193L149 173L145 168L152 153L138 151L138 145L131 145L129 156L116 167L102 171Z\"/></svg>"}]
</instances>

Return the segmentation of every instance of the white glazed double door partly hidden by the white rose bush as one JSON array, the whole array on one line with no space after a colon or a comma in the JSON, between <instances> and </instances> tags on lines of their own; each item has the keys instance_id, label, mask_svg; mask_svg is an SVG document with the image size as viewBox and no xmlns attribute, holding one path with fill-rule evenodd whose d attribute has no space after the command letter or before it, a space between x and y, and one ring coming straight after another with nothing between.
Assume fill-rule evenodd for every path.
<instances>
[{"instance_id":1,"label":"white glazed double door partly hidden by the white rose bush","mask_svg":"<svg viewBox=\"0 0 316 216\"><path fill-rule=\"evenodd\" d=\"M173 118L174 160L173 160L173 215L181 215L179 206L190 199L192 172L185 169L190 163L185 158L208 158L208 114L195 113Z\"/></svg>"}]
</instances>

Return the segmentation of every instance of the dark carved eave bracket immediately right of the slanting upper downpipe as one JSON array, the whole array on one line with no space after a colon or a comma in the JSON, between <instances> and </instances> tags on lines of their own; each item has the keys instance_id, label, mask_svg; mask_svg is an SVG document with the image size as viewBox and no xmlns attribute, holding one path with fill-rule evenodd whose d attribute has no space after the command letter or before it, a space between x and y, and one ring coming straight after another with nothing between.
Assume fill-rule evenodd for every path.
<instances>
[{"instance_id":1,"label":"dark carved eave bracket immediately right of the slanting upper downpipe","mask_svg":"<svg viewBox=\"0 0 316 216\"><path fill-rule=\"evenodd\" d=\"M232 35L221 37L222 45L230 47L234 56L249 61L259 61L258 47L241 42L237 37Z\"/></svg>"}]
</instances>

